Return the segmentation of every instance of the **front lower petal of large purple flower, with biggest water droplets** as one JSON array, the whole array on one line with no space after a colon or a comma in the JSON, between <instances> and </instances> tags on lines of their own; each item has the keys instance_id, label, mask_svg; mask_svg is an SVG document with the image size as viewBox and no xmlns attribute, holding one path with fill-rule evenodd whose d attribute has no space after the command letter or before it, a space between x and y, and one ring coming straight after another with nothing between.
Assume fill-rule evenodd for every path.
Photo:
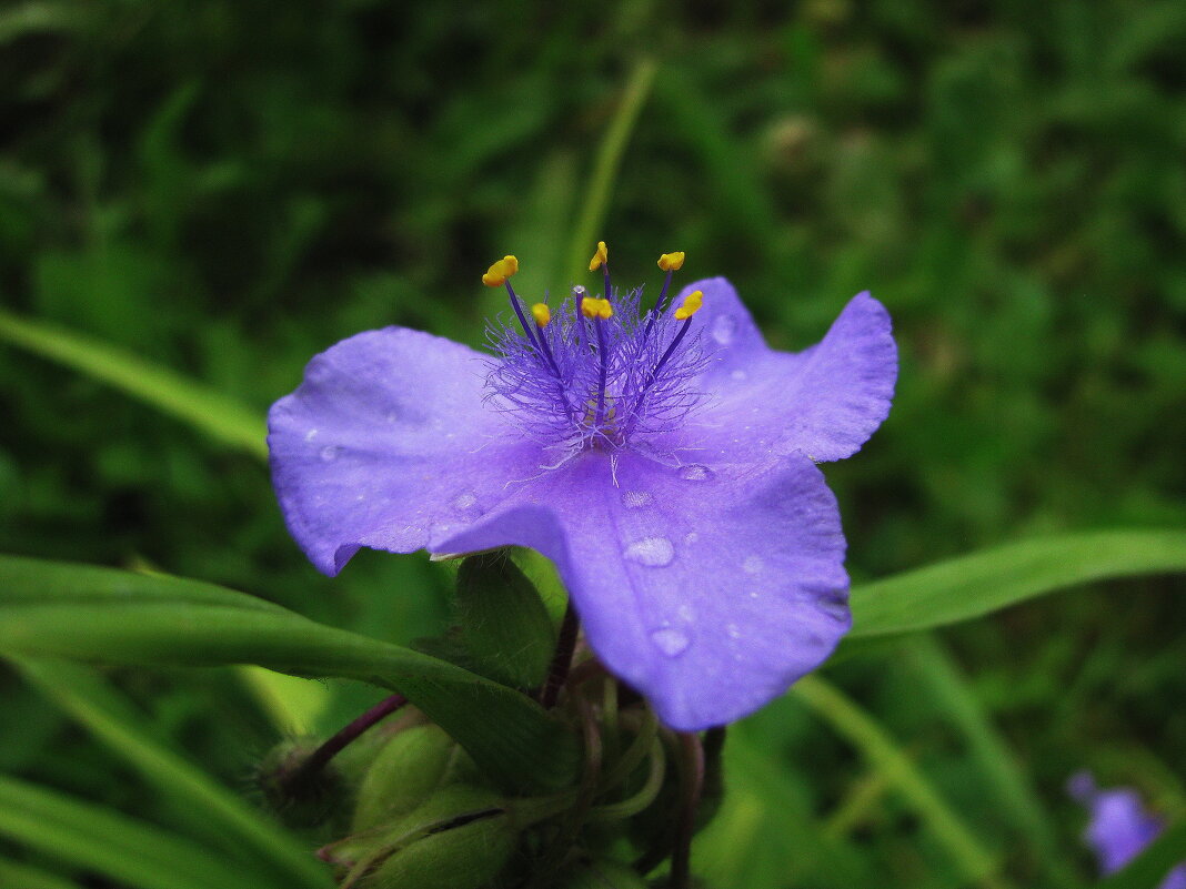
<instances>
[{"instance_id":1,"label":"front lower petal of large purple flower, with biggest water droplets","mask_svg":"<svg viewBox=\"0 0 1186 889\"><path fill-rule=\"evenodd\" d=\"M506 544L556 563L593 651L678 730L753 712L850 625L836 500L798 454L681 471L588 452L434 549Z\"/></svg>"}]
</instances>

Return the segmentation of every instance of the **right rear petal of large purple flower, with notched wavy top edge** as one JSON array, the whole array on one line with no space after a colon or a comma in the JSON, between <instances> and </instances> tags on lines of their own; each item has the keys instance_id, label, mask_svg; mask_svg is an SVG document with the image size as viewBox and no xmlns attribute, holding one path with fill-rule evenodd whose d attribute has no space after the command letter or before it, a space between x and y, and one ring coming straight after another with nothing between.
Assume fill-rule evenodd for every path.
<instances>
[{"instance_id":1,"label":"right rear petal of large purple flower, with notched wavy top edge","mask_svg":"<svg viewBox=\"0 0 1186 889\"><path fill-rule=\"evenodd\" d=\"M681 436L716 459L761 460L797 450L816 461L860 449L890 414L898 348L890 314L868 293L854 296L817 345L797 353L766 346L725 279L689 284L704 292L694 318L716 350L697 384L708 404Z\"/></svg>"}]
</instances>

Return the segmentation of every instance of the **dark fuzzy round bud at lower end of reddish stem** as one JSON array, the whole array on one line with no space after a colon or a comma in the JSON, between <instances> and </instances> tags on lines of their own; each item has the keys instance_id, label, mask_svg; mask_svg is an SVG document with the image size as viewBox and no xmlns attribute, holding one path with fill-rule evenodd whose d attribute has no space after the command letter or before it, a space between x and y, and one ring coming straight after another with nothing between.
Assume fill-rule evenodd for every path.
<instances>
[{"instance_id":1,"label":"dark fuzzy round bud at lower end of reddish stem","mask_svg":"<svg viewBox=\"0 0 1186 889\"><path fill-rule=\"evenodd\" d=\"M268 807L291 827L321 824L345 805L345 781L332 763L304 772L318 747L310 737L281 741L256 768L255 782Z\"/></svg>"}]
</instances>

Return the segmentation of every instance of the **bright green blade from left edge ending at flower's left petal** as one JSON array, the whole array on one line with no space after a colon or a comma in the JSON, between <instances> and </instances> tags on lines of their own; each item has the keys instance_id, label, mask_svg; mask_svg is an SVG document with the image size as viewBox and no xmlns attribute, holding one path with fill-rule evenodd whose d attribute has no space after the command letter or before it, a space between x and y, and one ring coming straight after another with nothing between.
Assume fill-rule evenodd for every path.
<instances>
[{"instance_id":1,"label":"bright green blade from left edge ending at flower's left petal","mask_svg":"<svg viewBox=\"0 0 1186 889\"><path fill-rule=\"evenodd\" d=\"M268 459L263 417L259 412L173 371L83 334L4 309L0 309L0 341L109 383L217 441Z\"/></svg>"}]
</instances>

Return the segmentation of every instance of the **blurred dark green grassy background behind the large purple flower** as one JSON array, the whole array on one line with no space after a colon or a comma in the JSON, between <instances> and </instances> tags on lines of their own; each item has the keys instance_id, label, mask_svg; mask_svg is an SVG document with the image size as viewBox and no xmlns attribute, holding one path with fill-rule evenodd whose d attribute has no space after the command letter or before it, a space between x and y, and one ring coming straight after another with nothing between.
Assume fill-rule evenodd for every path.
<instances>
[{"instance_id":1,"label":"blurred dark green grassy background behind the large purple flower","mask_svg":"<svg viewBox=\"0 0 1186 889\"><path fill-rule=\"evenodd\" d=\"M261 416L361 330L480 344L493 258L519 257L528 294L574 280L597 149L643 58L657 73L597 231L619 280L655 287L655 257L684 250L684 281L728 276L791 350L861 289L894 318L893 412L827 467L854 577L1046 532L1186 525L1175 0L9 2L0 305ZM320 577L255 456L89 376L0 346L0 417L2 551L155 565L397 641L446 619L448 577L422 555ZM1072 770L1186 812L1184 593L1101 584L942 637L1073 872L1090 869ZM1005 871L1039 884L925 663L894 650L830 676ZM222 674L121 682L228 781L273 740ZM0 768L164 805L2 683ZM372 693L346 690L342 712ZM738 767L738 802L706 838L713 885L964 884L802 704L735 734L765 759Z\"/></svg>"}]
</instances>

